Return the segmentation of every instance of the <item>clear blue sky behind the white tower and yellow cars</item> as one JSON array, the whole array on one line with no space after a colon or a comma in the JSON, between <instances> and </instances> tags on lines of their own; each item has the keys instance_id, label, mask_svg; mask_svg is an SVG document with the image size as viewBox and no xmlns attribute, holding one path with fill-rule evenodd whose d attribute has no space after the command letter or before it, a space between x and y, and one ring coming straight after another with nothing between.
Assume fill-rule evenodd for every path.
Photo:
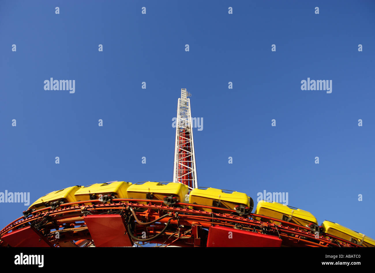
<instances>
[{"instance_id":1,"label":"clear blue sky behind the white tower and yellow cars","mask_svg":"<svg viewBox=\"0 0 375 273\"><path fill-rule=\"evenodd\" d=\"M72 185L171 181L186 88L203 118L199 186L255 204L288 192L319 224L375 238L374 12L372 1L1 1L0 192L33 202ZM45 91L51 77L75 93ZM302 91L308 77L332 93ZM0 203L1 228L26 208Z\"/></svg>"}]
</instances>

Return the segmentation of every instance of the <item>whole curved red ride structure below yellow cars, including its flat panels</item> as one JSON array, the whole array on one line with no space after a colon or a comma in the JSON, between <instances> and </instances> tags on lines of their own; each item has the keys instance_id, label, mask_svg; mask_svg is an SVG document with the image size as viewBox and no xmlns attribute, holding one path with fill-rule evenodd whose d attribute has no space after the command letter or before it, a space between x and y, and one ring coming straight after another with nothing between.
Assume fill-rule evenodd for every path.
<instances>
[{"instance_id":1,"label":"whole curved red ride structure below yellow cars, including its flat panels","mask_svg":"<svg viewBox=\"0 0 375 273\"><path fill-rule=\"evenodd\" d=\"M326 233L317 236L309 227L254 213L161 200L112 199L78 201L46 207L22 216L0 231L0 246L298 246L361 247ZM90 204L90 205L86 205ZM213 213L194 207L220 210ZM261 217L270 222L257 221ZM281 224L273 224L273 221ZM213 232L208 232L208 231ZM228 232L234 240L226 240ZM27 240L25 240L27 236ZM236 238L238 238L236 240ZM224 245L218 245L224 244Z\"/></svg>"}]
</instances>

